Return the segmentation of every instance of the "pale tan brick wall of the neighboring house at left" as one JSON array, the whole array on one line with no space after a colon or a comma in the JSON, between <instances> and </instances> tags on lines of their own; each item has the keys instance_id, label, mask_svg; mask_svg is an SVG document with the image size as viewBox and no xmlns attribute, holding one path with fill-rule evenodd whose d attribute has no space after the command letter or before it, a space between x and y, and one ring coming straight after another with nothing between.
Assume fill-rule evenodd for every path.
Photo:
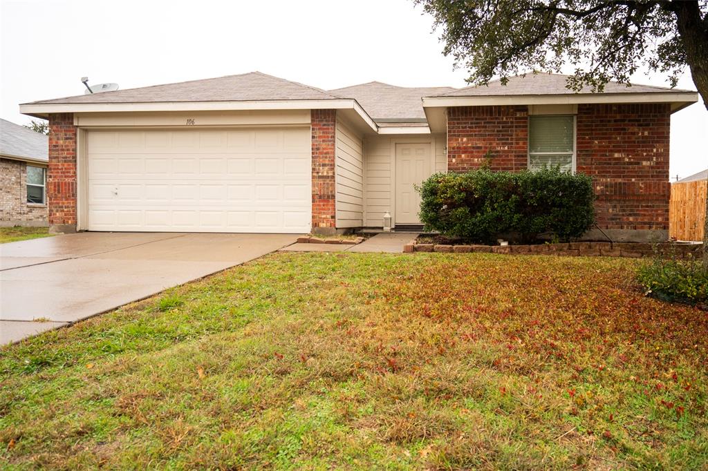
<instances>
[{"instance_id":1,"label":"pale tan brick wall of the neighboring house at left","mask_svg":"<svg viewBox=\"0 0 708 471\"><path fill-rule=\"evenodd\" d=\"M0 226L47 226L47 206L27 203L27 163L0 158Z\"/></svg>"}]
</instances>

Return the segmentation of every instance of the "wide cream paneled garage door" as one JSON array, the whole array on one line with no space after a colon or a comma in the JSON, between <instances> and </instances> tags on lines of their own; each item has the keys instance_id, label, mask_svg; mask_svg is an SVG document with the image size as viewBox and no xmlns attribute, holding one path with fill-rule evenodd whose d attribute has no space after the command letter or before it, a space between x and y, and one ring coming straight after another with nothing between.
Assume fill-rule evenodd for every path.
<instances>
[{"instance_id":1,"label":"wide cream paneled garage door","mask_svg":"<svg viewBox=\"0 0 708 471\"><path fill-rule=\"evenodd\" d=\"M89 231L307 233L307 128L89 131Z\"/></svg>"}]
</instances>

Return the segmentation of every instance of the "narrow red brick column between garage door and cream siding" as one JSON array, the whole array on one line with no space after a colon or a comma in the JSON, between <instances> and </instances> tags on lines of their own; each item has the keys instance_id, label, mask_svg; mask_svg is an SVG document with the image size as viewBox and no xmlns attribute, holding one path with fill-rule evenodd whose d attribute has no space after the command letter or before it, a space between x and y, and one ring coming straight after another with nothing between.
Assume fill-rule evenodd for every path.
<instances>
[{"instance_id":1,"label":"narrow red brick column between garage door and cream siding","mask_svg":"<svg viewBox=\"0 0 708 471\"><path fill-rule=\"evenodd\" d=\"M333 232L336 110L312 110L312 231Z\"/></svg>"}]
</instances>

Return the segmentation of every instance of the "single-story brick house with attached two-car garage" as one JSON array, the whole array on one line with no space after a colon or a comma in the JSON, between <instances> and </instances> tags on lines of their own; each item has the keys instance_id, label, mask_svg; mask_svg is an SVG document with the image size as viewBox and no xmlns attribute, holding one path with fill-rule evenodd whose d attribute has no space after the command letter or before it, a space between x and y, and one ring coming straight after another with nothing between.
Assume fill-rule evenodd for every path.
<instances>
[{"instance_id":1,"label":"single-story brick house with attached two-car garage","mask_svg":"<svg viewBox=\"0 0 708 471\"><path fill-rule=\"evenodd\" d=\"M668 237L670 115L697 93L566 76L324 91L252 72L42 100L55 231L333 233L416 226L435 172L558 164L592 175L615 240ZM588 237L603 237L590 231Z\"/></svg>"}]
</instances>

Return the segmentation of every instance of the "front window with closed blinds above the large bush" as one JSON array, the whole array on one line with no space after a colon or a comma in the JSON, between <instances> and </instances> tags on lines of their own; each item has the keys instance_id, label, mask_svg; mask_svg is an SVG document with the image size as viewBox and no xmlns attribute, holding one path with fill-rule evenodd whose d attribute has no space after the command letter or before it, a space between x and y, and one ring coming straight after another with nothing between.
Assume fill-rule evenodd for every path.
<instances>
[{"instance_id":1,"label":"front window with closed blinds above the large bush","mask_svg":"<svg viewBox=\"0 0 708 471\"><path fill-rule=\"evenodd\" d=\"M575 116L529 117L529 168L575 171Z\"/></svg>"}]
</instances>

